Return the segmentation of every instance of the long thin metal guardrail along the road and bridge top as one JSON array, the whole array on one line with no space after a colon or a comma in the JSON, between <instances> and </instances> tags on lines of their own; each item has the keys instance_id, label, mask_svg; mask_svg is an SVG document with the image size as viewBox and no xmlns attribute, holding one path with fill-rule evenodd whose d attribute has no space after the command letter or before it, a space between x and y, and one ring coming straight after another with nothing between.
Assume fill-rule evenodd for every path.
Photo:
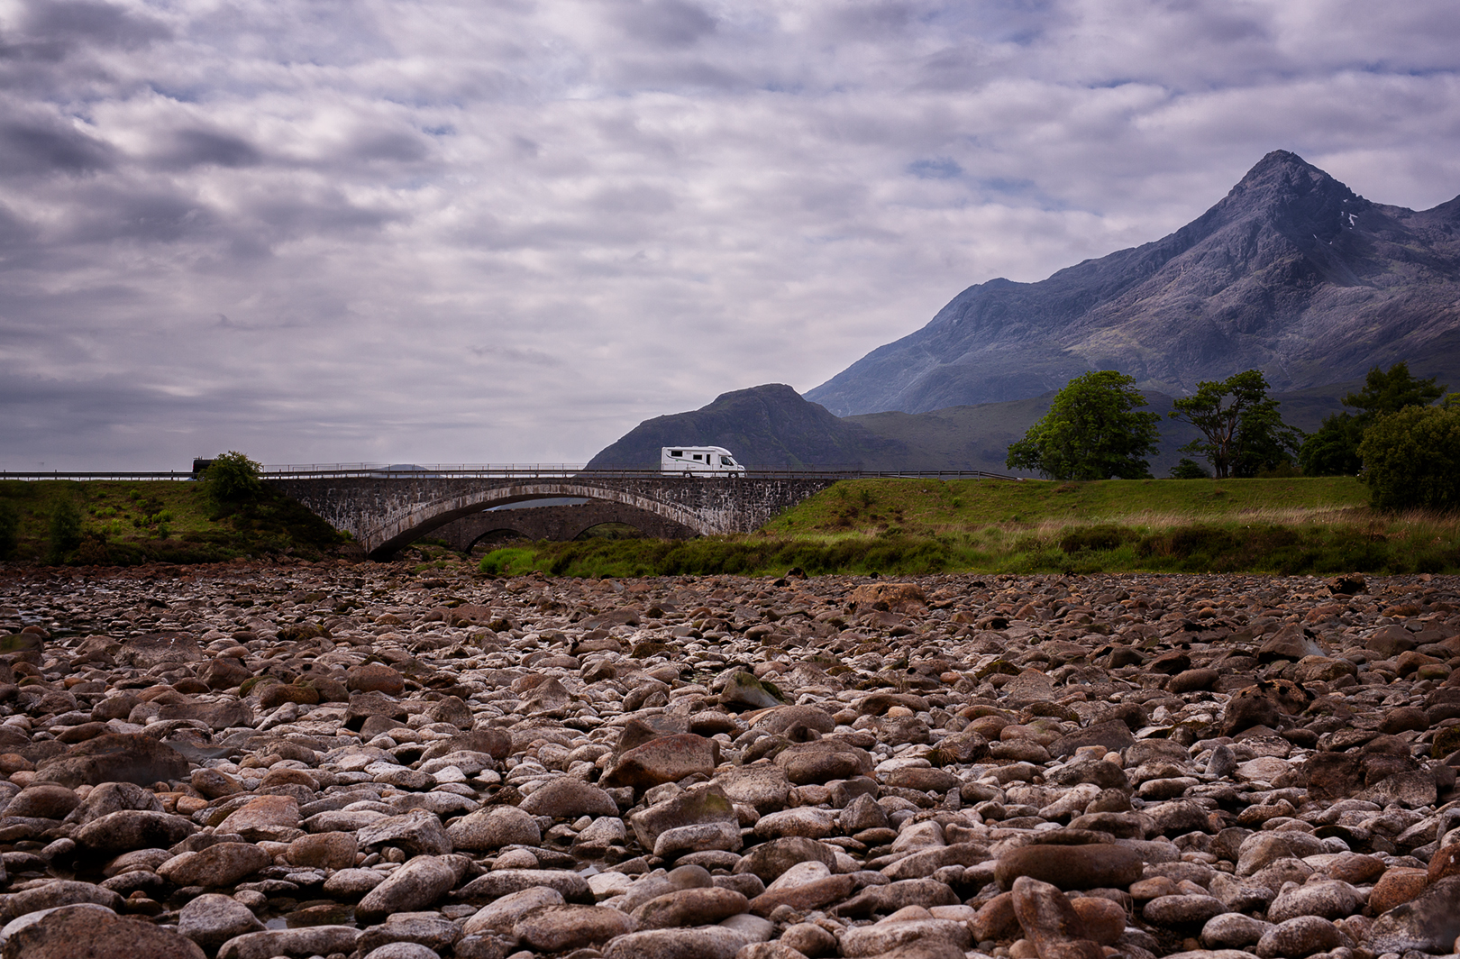
<instances>
[{"instance_id":1,"label":"long thin metal guardrail along the road and bridge top","mask_svg":"<svg viewBox=\"0 0 1460 959\"><path fill-rule=\"evenodd\" d=\"M660 479L677 477L657 466L587 467L564 463L511 464L432 464L410 467L377 463L327 463L308 466L266 466L263 479ZM854 466L750 466L746 479L1002 479L1022 480L1021 476L987 473L984 470L861 470ZM96 470L88 473L10 471L0 470L0 479L15 480L193 480L187 470L140 471Z\"/></svg>"}]
</instances>

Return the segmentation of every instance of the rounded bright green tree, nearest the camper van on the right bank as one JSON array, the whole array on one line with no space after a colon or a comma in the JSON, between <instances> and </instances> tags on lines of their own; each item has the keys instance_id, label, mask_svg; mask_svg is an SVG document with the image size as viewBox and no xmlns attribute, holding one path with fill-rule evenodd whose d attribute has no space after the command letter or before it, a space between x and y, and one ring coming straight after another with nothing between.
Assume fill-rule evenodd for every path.
<instances>
[{"instance_id":1,"label":"rounded bright green tree, nearest the camper van on the right bank","mask_svg":"<svg viewBox=\"0 0 1460 959\"><path fill-rule=\"evenodd\" d=\"M1136 410L1146 398L1134 384L1114 369L1070 380L1044 419L1009 447L1009 469L1061 480L1149 479L1161 417Z\"/></svg>"}]
</instances>

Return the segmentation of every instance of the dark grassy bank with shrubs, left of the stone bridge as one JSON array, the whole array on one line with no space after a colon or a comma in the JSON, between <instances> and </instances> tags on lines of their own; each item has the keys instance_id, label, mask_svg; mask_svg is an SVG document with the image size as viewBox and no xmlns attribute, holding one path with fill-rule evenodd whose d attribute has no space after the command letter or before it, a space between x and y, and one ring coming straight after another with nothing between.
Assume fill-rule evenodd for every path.
<instances>
[{"instance_id":1,"label":"dark grassy bank with shrubs, left of the stone bridge","mask_svg":"<svg viewBox=\"0 0 1460 959\"><path fill-rule=\"evenodd\" d=\"M51 520L66 502L80 514L77 542L63 550L72 565L318 559L347 543L320 517L270 492L219 509L201 483L0 480L0 509L19 521L9 559L45 562Z\"/></svg>"}]
</instances>

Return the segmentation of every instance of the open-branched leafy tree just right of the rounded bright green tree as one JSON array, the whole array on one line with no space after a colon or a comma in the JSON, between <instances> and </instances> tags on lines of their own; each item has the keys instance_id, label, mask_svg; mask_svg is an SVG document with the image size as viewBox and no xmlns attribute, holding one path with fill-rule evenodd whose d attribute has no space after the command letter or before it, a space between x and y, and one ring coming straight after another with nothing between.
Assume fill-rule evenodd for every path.
<instances>
[{"instance_id":1,"label":"open-branched leafy tree just right of the rounded bright green tree","mask_svg":"<svg viewBox=\"0 0 1460 959\"><path fill-rule=\"evenodd\" d=\"M1267 396L1267 378L1257 369L1221 382L1202 381L1174 406L1171 419L1187 420L1203 436L1181 452L1204 455L1218 479L1257 476L1291 463L1302 444L1302 432L1282 422L1278 400Z\"/></svg>"}]
</instances>

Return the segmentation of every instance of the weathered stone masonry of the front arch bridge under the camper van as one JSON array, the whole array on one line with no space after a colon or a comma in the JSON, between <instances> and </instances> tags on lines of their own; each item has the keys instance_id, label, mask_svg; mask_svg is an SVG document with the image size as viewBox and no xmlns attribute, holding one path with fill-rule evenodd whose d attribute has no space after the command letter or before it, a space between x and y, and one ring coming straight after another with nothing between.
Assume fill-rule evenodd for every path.
<instances>
[{"instance_id":1,"label":"weathered stone masonry of the front arch bridge under the camper van","mask_svg":"<svg viewBox=\"0 0 1460 959\"><path fill-rule=\"evenodd\" d=\"M593 476L267 479L374 559L453 520L524 499L583 496L657 514L696 534L750 533L783 509L831 486L826 477Z\"/></svg>"}]
</instances>

